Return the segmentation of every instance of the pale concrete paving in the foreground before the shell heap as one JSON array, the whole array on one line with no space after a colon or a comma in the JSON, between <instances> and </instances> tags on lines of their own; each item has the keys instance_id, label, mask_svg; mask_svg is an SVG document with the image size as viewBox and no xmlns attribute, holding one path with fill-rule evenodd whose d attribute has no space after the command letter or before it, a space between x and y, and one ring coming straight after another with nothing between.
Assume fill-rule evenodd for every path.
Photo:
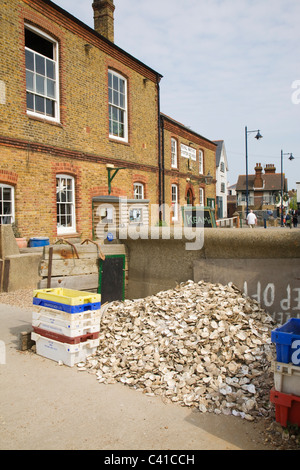
<instances>
[{"instance_id":1,"label":"pale concrete paving in the foreground before the shell heap","mask_svg":"<svg viewBox=\"0 0 300 470\"><path fill-rule=\"evenodd\" d=\"M264 420L250 423L164 404L159 397L99 384L76 367L21 352L20 332L30 330L30 309L0 304L6 352L0 361L2 450L270 449Z\"/></svg>"}]
</instances>

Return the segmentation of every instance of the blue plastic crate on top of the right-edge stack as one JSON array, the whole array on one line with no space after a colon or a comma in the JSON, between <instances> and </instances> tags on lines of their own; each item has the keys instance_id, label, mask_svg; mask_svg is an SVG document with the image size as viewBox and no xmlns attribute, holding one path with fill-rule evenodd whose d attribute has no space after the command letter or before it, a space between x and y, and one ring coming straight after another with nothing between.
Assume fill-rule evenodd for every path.
<instances>
[{"instance_id":1,"label":"blue plastic crate on top of the right-edge stack","mask_svg":"<svg viewBox=\"0 0 300 470\"><path fill-rule=\"evenodd\" d=\"M277 362L300 366L300 318L291 318L273 330L271 341L276 344Z\"/></svg>"}]
</instances>

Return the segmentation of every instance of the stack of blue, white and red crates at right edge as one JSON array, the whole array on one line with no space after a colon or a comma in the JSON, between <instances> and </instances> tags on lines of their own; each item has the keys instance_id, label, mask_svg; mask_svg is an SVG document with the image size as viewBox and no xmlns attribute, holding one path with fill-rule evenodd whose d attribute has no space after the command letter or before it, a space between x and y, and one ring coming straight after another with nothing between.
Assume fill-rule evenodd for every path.
<instances>
[{"instance_id":1,"label":"stack of blue, white and red crates at right edge","mask_svg":"<svg viewBox=\"0 0 300 470\"><path fill-rule=\"evenodd\" d=\"M271 332L276 344L273 361L274 387L270 393L275 404L275 418L283 427L300 426L300 319L291 318Z\"/></svg>"}]
</instances>

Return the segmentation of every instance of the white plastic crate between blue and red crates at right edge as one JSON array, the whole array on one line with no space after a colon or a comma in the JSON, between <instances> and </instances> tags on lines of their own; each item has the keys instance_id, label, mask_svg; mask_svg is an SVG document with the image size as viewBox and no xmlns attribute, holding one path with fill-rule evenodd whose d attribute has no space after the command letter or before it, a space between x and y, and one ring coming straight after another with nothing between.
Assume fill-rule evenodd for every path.
<instances>
[{"instance_id":1,"label":"white plastic crate between blue and red crates at right edge","mask_svg":"<svg viewBox=\"0 0 300 470\"><path fill-rule=\"evenodd\" d=\"M300 396L300 367L290 363L272 362L276 392Z\"/></svg>"}]
</instances>

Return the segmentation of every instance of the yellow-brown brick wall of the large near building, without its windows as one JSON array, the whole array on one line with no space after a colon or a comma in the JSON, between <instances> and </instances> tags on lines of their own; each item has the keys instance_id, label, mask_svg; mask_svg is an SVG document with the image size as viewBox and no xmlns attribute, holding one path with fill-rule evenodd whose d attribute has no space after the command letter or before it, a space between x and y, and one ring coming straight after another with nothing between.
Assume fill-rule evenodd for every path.
<instances>
[{"instance_id":1,"label":"yellow-brown brick wall of the large near building, without its windows","mask_svg":"<svg viewBox=\"0 0 300 470\"><path fill-rule=\"evenodd\" d=\"M57 174L75 179L74 235L91 236L92 197L108 194L107 163L125 167L112 195L132 198L134 182L143 182L157 204L158 74L41 0L1 2L0 14L0 184L15 187L22 235L57 237ZM58 41L59 123L27 114L25 24ZM128 83L126 143L109 138L109 69Z\"/></svg>"}]
</instances>

